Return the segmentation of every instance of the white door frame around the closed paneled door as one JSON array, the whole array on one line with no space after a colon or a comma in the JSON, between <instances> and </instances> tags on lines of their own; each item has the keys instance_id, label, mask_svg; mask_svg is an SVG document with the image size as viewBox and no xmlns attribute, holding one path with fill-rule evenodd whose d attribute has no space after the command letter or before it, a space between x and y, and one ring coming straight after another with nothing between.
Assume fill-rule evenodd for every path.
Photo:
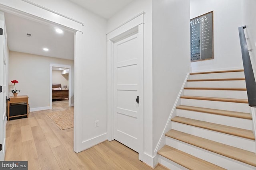
<instances>
[{"instance_id":1,"label":"white door frame around the closed paneled door","mask_svg":"<svg viewBox=\"0 0 256 170\"><path fill-rule=\"evenodd\" d=\"M108 98L107 98L107 115L108 115L108 141L114 140L114 42L119 39L124 39L128 37L135 31L138 31L138 41L142 66L139 68L139 88L138 95L140 96L140 109L138 113L139 120L139 135L138 135L138 144L139 144L139 154L144 151L144 12L138 14L134 18L130 19L120 27L114 29L107 34L107 89L108 89ZM135 99L134 99L135 100Z\"/></svg>"}]
</instances>

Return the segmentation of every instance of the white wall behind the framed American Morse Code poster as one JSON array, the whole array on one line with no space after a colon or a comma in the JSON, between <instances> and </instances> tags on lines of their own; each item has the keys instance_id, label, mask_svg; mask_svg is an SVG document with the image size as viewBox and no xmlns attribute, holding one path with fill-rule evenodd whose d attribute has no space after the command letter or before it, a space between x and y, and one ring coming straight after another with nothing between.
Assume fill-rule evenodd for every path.
<instances>
[{"instance_id":1,"label":"white wall behind the framed American Morse Code poster","mask_svg":"<svg viewBox=\"0 0 256 170\"><path fill-rule=\"evenodd\" d=\"M238 27L242 26L242 1L247 2L247 0L190 0L190 18L210 11L214 14L214 59L192 62L192 72L243 68L238 34Z\"/></svg>"}]
</instances>

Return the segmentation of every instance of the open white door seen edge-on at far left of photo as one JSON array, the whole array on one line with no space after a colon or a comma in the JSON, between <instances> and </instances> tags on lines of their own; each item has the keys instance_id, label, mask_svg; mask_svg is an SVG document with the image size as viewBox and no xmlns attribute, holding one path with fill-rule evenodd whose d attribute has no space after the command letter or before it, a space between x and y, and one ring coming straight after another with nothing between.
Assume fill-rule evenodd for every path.
<instances>
[{"instance_id":1,"label":"open white door seen edge-on at far left of photo","mask_svg":"<svg viewBox=\"0 0 256 170\"><path fill-rule=\"evenodd\" d=\"M4 13L0 12L0 160L4 160L5 154L5 124L6 124L6 30L4 24Z\"/></svg>"}]
</instances>

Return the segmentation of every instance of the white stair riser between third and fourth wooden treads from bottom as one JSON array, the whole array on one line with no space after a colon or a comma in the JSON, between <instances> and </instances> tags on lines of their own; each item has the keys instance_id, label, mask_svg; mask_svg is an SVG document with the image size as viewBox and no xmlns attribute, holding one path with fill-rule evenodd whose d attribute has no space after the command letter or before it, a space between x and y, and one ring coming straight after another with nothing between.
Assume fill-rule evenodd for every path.
<instances>
[{"instance_id":1,"label":"white stair riser between third and fourth wooden treads from bottom","mask_svg":"<svg viewBox=\"0 0 256 170\"><path fill-rule=\"evenodd\" d=\"M186 117L190 119L196 119L200 121L207 121L211 123L217 123L220 125L232 126L241 129L247 129L252 131L252 120L242 119L238 117L229 117L223 115L215 115L210 113L202 113L198 111L189 111L177 109L177 116Z\"/></svg>"}]
</instances>

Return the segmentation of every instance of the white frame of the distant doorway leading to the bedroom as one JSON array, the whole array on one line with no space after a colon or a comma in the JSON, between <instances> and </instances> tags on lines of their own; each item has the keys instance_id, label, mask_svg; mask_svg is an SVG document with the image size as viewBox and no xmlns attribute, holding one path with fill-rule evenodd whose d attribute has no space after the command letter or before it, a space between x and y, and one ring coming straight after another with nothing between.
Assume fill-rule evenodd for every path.
<instances>
[{"instance_id":1,"label":"white frame of the distant doorway leading to the bedroom","mask_svg":"<svg viewBox=\"0 0 256 170\"><path fill-rule=\"evenodd\" d=\"M72 66L64 64L50 64L50 109L52 109L52 67L68 68L68 107L74 106L72 104Z\"/></svg>"}]
</instances>

